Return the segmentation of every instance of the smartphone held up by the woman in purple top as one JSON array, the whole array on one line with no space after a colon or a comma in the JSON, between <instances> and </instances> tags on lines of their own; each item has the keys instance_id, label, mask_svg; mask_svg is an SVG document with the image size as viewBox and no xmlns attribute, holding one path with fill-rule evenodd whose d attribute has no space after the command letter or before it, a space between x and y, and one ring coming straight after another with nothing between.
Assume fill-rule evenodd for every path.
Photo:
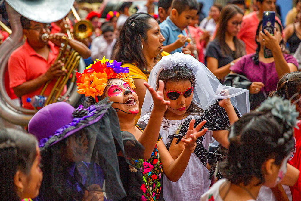
<instances>
[{"instance_id":1,"label":"smartphone held up by the woman in purple top","mask_svg":"<svg viewBox=\"0 0 301 201\"><path fill-rule=\"evenodd\" d=\"M272 36L274 36L274 25L275 25L275 12L264 11L262 19L262 32L266 29ZM273 57L272 51L265 46L263 47L263 54L265 58Z\"/></svg>"}]
</instances>

